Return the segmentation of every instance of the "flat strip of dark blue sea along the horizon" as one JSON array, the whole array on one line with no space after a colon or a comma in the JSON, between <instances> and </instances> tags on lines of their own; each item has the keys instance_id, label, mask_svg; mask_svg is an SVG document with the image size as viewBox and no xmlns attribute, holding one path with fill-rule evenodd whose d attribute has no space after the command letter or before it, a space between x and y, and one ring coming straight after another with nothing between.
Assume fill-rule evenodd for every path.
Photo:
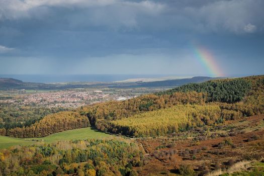
<instances>
[{"instance_id":1,"label":"flat strip of dark blue sea along the horizon","mask_svg":"<svg viewBox=\"0 0 264 176\"><path fill-rule=\"evenodd\" d=\"M169 75L164 74L74 74L74 75L52 75L52 74L0 74L0 77L19 79L25 82L112 82L132 78L160 78Z\"/></svg>"}]
</instances>

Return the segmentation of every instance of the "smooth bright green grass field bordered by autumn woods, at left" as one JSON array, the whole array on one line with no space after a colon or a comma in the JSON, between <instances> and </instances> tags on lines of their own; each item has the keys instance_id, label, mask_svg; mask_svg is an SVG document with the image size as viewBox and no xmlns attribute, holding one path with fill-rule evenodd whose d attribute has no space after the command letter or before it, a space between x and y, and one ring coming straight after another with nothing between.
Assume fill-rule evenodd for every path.
<instances>
[{"instance_id":1,"label":"smooth bright green grass field bordered by autumn woods, at left","mask_svg":"<svg viewBox=\"0 0 264 176\"><path fill-rule=\"evenodd\" d=\"M91 139L109 137L109 134L93 130L90 127L75 130L63 131L41 138L12 138L7 136L0 136L0 148L8 148L14 145L31 145L38 141L45 143L52 143L59 140L72 140L72 139Z\"/></svg>"}]
</instances>

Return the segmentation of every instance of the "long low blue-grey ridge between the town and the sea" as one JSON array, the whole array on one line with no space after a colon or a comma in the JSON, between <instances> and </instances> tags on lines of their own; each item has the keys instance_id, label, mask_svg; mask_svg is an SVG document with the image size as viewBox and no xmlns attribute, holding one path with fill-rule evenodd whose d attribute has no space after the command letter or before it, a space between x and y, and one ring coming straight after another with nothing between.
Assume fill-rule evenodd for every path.
<instances>
[{"instance_id":1,"label":"long low blue-grey ridge between the town and the sea","mask_svg":"<svg viewBox=\"0 0 264 176\"><path fill-rule=\"evenodd\" d=\"M75 88L136 88L136 87L175 87L187 83L200 83L224 77L195 76L192 78L168 79L160 81L135 81L135 82L64 82L64 83L37 83L23 82L14 78L0 78L0 90L25 89L25 90L64 90Z\"/></svg>"}]
</instances>

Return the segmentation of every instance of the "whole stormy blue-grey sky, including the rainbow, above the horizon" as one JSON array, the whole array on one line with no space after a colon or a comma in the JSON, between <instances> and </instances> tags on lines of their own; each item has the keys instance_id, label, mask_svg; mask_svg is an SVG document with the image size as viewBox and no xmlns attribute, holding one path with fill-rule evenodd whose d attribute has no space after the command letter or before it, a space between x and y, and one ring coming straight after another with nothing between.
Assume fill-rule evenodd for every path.
<instances>
[{"instance_id":1,"label":"whole stormy blue-grey sky, including the rainbow, above the horizon","mask_svg":"<svg viewBox=\"0 0 264 176\"><path fill-rule=\"evenodd\" d=\"M0 74L264 74L263 0L0 0Z\"/></svg>"}]
</instances>

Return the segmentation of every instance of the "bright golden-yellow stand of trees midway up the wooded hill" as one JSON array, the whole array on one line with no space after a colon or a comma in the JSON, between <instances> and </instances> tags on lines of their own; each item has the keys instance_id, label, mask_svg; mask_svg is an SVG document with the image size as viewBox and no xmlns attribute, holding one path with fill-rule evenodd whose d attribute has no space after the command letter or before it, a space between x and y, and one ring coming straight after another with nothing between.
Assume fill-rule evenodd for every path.
<instances>
[{"instance_id":1,"label":"bright golden-yellow stand of trees midway up the wooded hill","mask_svg":"<svg viewBox=\"0 0 264 176\"><path fill-rule=\"evenodd\" d=\"M203 126L207 123L204 119L215 122L218 120L215 116L221 116L219 106L178 105L111 121L110 129L113 133L132 137L165 136Z\"/></svg>"}]
</instances>

